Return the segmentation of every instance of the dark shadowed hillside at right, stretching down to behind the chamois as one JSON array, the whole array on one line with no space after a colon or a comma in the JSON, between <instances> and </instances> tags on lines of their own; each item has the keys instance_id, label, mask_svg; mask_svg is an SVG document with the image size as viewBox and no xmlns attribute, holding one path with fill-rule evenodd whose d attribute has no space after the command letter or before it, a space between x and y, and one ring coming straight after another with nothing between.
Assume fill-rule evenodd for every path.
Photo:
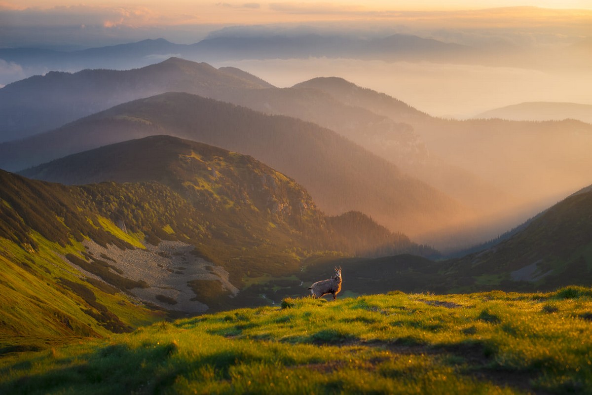
<instances>
[{"instance_id":1,"label":"dark shadowed hillside at right, stretching down to behind the chamois","mask_svg":"<svg viewBox=\"0 0 592 395\"><path fill-rule=\"evenodd\" d=\"M552 290L592 283L592 191L588 187L515 229L503 241L462 258L430 261L411 255L372 260L321 260L304 279L341 265L353 294ZM387 282L377 279L388 278Z\"/></svg>"}]
</instances>

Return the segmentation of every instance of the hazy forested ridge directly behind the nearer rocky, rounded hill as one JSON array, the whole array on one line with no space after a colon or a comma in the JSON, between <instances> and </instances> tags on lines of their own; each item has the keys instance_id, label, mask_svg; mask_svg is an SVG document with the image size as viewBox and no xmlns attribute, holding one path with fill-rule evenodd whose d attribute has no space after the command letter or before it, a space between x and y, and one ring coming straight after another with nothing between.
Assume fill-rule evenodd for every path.
<instances>
[{"instance_id":1,"label":"hazy forested ridge directly behind the nearer rocky, rounded hill","mask_svg":"<svg viewBox=\"0 0 592 395\"><path fill-rule=\"evenodd\" d=\"M447 196L329 129L187 93L133 101L51 132L0 144L0 166L22 169L155 134L252 155L294 177L330 215L361 211L393 231L416 234L466 214Z\"/></svg>"}]
</instances>

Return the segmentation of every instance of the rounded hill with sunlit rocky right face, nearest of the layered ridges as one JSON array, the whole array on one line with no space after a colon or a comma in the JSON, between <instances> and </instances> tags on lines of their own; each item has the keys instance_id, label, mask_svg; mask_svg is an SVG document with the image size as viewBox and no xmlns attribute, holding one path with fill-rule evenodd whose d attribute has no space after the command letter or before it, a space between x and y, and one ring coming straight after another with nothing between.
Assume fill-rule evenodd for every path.
<instances>
[{"instance_id":1,"label":"rounded hill with sunlit rocky right face, nearest of the layered ridges","mask_svg":"<svg viewBox=\"0 0 592 395\"><path fill-rule=\"evenodd\" d=\"M416 253L422 250L404 235L391 234L362 213L325 216L303 187L252 157L166 135L95 148L21 174L62 184L157 182L188 200L200 218L217 224L218 232L223 226L258 229L261 224L265 230L258 232L265 233L270 227L275 232L285 231L285 237L272 237L275 244L279 239L289 244L291 239L317 250L327 248L356 255L372 255L375 248ZM234 234L231 239L239 243L239 239L258 232ZM425 251L430 253L428 248ZM249 263L250 270L257 264ZM265 270L272 273L270 268Z\"/></svg>"}]
</instances>

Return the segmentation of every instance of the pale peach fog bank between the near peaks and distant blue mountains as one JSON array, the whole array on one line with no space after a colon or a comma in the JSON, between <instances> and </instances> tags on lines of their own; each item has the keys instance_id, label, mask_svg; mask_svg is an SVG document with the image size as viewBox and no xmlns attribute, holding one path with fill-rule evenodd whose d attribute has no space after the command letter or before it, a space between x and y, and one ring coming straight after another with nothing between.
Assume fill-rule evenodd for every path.
<instances>
[{"instance_id":1,"label":"pale peach fog bank between the near peaks and distant blue mountains","mask_svg":"<svg viewBox=\"0 0 592 395\"><path fill-rule=\"evenodd\" d=\"M592 70L568 73L427 61L330 58L233 60L214 65L238 67L280 88L314 77L343 77L445 118L471 118L522 102L592 104Z\"/></svg>"}]
</instances>

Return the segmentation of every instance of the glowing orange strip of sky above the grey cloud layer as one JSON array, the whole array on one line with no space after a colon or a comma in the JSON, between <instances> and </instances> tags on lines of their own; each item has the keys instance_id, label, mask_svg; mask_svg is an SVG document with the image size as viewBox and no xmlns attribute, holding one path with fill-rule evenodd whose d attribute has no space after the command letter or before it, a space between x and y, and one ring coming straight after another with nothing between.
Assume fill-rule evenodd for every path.
<instances>
[{"instance_id":1,"label":"glowing orange strip of sky above the grey cloud layer","mask_svg":"<svg viewBox=\"0 0 592 395\"><path fill-rule=\"evenodd\" d=\"M147 25L264 24L375 18L397 20L430 18L429 14L410 15L401 12L453 12L518 5L592 10L592 0L0 0L0 22L8 25L102 24L105 27L127 25L137 28Z\"/></svg>"}]
</instances>

